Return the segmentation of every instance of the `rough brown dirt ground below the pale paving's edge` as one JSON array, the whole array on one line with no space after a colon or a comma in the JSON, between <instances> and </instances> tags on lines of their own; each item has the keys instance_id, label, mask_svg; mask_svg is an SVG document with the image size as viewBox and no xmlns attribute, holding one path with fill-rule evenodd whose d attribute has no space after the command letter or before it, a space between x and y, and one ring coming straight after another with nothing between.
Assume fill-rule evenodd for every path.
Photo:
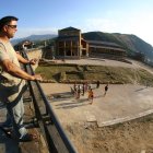
<instances>
[{"instance_id":1,"label":"rough brown dirt ground below the pale paving's edge","mask_svg":"<svg viewBox=\"0 0 153 153\"><path fill-rule=\"evenodd\" d=\"M152 117L104 128L72 123L66 130L79 153L153 153Z\"/></svg>"}]
</instances>

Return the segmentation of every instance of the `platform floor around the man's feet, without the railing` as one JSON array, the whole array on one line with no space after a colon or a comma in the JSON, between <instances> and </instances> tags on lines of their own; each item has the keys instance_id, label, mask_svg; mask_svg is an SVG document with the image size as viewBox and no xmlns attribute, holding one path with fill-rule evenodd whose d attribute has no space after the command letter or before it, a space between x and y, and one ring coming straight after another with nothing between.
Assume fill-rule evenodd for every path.
<instances>
[{"instance_id":1,"label":"platform floor around the man's feet, without the railing","mask_svg":"<svg viewBox=\"0 0 153 153\"><path fill-rule=\"evenodd\" d=\"M31 142L19 142L17 140L8 138L5 133L0 130L0 153L49 153L43 134L35 122L35 110L28 91L24 94L24 121L25 127L30 133L36 133L37 140ZM5 106L0 103L0 123L4 122L7 116Z\"/></svg>"}]
</instances>

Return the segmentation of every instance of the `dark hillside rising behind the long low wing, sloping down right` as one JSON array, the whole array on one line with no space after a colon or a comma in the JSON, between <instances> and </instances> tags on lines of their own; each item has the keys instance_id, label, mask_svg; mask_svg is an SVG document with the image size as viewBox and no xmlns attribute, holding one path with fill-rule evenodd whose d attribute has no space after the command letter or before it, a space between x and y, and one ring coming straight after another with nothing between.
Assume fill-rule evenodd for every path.
<instances>
[{"instance_id":1,"label":"dark hillside rising behind the long low wing, sloping down right","mask_svg":"<svg viewBox=\"0 0 153 153\"><path fill-rule=\"evenodd\" d=\"M83 38L86 40L116 43L122 46L129 56L137 56L139 52L145 57L145 62L152 62L153 60L153 47L136 35L89 32L83 34Z\"/></svg>"}]
</instances>

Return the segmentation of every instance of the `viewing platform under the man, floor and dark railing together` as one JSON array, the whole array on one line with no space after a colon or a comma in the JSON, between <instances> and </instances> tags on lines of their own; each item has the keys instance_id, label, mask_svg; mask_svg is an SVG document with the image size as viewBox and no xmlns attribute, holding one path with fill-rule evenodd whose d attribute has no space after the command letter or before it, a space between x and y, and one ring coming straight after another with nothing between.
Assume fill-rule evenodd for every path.
<instances>
[{"instance_id":1,"label":"viewing platform under the man, floor and dark railing together","mask_svg":"<svg viewBox=\"0 0 153 153\"><path fill-rule=\"evenodd\" d=\"M22 56L27 58L23 51ZM34 74L30 64L23 69ZM27 90L24 94L24 125L30 133L36 133L36 141L20 142L16 138L8 138L2 127L0 128L0 153L76 153L73 144L63 131L51 105L49 104L38 81L27 81ZM4 122L7 109L0 103L0 123Z\"/></svg>"}]
</instances>

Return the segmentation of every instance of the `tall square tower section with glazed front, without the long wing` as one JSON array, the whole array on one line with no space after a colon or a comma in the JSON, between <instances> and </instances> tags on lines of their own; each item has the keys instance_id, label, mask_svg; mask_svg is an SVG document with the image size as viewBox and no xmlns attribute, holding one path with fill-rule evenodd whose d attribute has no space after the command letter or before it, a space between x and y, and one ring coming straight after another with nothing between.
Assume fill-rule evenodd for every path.
<instances>
[{"instance_id":1,"label":"tall square tower section with glazed front, without the long wing","mask_svg":"<svg viewBox=\"0 0 153 153\"><path fill-rule=\"evenodd\" d=\"M58 31L56 56L61 58L81 58L89 56L89 44L81 36L81 31L67 27Z\"/></svg>"}]
</instances>

